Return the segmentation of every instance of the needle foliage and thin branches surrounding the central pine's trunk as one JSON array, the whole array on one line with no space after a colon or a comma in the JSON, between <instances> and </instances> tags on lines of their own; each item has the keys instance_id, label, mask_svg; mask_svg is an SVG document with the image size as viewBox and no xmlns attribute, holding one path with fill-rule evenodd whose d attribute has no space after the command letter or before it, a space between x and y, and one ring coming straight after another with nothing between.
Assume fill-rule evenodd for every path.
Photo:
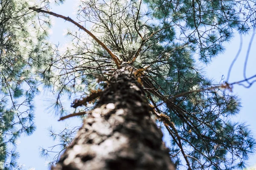
<instances>
[{"instance_id":1,"label":"needle foliage and thin branches surrounding the central pine's trunk","mask_svg":"<svg viewBox=\"0 0 256 170\"><path fill-rule=\"evenodd\" d=\"M149 66L142 84L156 112L171 120L162 121L178 168L185 164L193 170L244 167L254 150L256 143L247 126L230 121L239 112L239 99L213 88L215 84L193 58L199 53L202 61L209 62L223 52L233 30L246 32L253 26L238 11L241 6L249 17L252 7L245 8L244 3L81 0L78 7L78 19L90 23L92 33L122 62L135 69ZM104 88L116 69L109 54L87 34L69 30L67 35L72 41L62 50L55 48L42 74L45 84L58 94L60 108L64 106L59 96L82 97Z\"/></svg>"}]
</instances>

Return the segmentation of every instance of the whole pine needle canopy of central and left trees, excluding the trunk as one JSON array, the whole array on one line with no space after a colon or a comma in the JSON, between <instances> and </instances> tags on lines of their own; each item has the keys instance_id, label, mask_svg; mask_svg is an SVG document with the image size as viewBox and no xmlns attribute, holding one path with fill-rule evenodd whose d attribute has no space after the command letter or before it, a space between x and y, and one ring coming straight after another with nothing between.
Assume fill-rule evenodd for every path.
<instances>
[{"instance_id":1,"label":"whole pine needle canopy of central and left trees, excluding the trunk","mask_svg":"<svg viewBox=\"0 0 256 170\"><path fill-rule=\"evenodd\" d=\"M80 30L68 30L72 40L61 48L46 40L49 15L61 17L50 12L51 3L12 3L1 1L0 166L15 167L8 142L34 129L32 99L38 80L56 94L52 107L64 115L61 96L82 100L104 90L113 72L127 62L137 69L152 114L169 132L169 153L178 169L244 167L255 140L245 124L230 120L239 113L239 99L225 91L229 82L215 84L197 63L224 52L223 43L236 31L255 28L254 2L79 0L78 21L62 18L80 24ZM77 113L91 107L74 108ZM61 139L69 139L61 142L66 147L70 131L63 132Z\"/></svg>"}]
</instances>

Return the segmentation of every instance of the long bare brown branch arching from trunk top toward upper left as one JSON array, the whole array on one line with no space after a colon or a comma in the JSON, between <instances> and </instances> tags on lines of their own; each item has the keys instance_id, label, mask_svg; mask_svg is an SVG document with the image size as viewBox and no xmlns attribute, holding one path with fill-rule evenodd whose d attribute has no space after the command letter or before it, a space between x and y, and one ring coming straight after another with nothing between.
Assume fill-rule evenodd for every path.
<instances>
[{"instance_id":1,"label":"long bare brown branch arching from trunk top toward upper left","mask_svg":"<svg viewBox=\"0 0 256 170\"><path fill-rule=\"evenodd\" d=\"M43 10L42 8L35 8L35 7L29 7L29 9L31 10L34 10L36 12L42 12L42 13L46 13L46 14L50 14L52 16L55 16L55 17L60 17L66 21L69 21L70 23L73 23L74 25L78 26L80 29L82 29L83 31L85 31L87 34L89 34L96 42L99 43L99 45L102 46L102 48L104 48L108 54L112 57L113 61L116 63L116 66L119 68L120 67L120 64L121 64L121 61L120 59L115 55L113 54L113 52L103 43L101 42L97 37L95 37L93 35L93 33L91 33L89 30L87 30L86 28L84 28L83 26L81 26L79 23L77 23L76 21L72 20L70 17L65 17L63 15L60 15L60 14L56 14L54 12L51 12L51 11L45 11Z\"/></svg>"}]
</instances>

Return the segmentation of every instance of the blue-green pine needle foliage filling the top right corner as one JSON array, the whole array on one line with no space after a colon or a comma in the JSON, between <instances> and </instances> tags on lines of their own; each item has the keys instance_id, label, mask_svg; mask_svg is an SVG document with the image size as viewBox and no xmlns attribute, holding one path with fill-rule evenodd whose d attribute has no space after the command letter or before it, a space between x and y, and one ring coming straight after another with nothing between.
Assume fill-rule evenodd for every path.
<instances>
[{"instance_id":1,"label":"blue-green pine needle foliage filling the top right corner","mask_svg":"<svg viewBox=\"0 0 256 170\"><path fill-rule=\"evenodd\" d=\"M255 27L255 3L249 0L144 0L160 22L177 28L177 38L196 45L200 59L209 62L224 50L234 30Z\"/></svg>"}]
</instances>

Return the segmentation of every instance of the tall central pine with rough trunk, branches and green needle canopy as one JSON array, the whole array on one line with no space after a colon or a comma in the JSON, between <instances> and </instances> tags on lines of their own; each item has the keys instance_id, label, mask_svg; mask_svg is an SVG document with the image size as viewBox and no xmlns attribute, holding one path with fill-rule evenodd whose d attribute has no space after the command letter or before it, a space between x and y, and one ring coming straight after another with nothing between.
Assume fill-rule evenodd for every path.
<instances>
[{"instance_id":1,"label":"tall central pine with rough trunk, branches and green needle canopy","mask_svg":"<svg viewBox=\"0 0 256 170\"><path fill-rule=\"evenodd\" d=\"M65 113L61 95L79 95L67 117L84 115L52 169L171 170L169 156L189 170L244 167L255 140L246 125L230 121L239 99L224 90L228 82L207 79L193 56L210 62L234 30L254 26L254 8L245 0L81 0L78 19L91 24L88 31L48 6L31 7L81 29L67 32L72 42L56 47L41 70L42 82L57 94L55 108ZM169 132L169 156L151 117Z\"/></svg>"}]
</instances>

